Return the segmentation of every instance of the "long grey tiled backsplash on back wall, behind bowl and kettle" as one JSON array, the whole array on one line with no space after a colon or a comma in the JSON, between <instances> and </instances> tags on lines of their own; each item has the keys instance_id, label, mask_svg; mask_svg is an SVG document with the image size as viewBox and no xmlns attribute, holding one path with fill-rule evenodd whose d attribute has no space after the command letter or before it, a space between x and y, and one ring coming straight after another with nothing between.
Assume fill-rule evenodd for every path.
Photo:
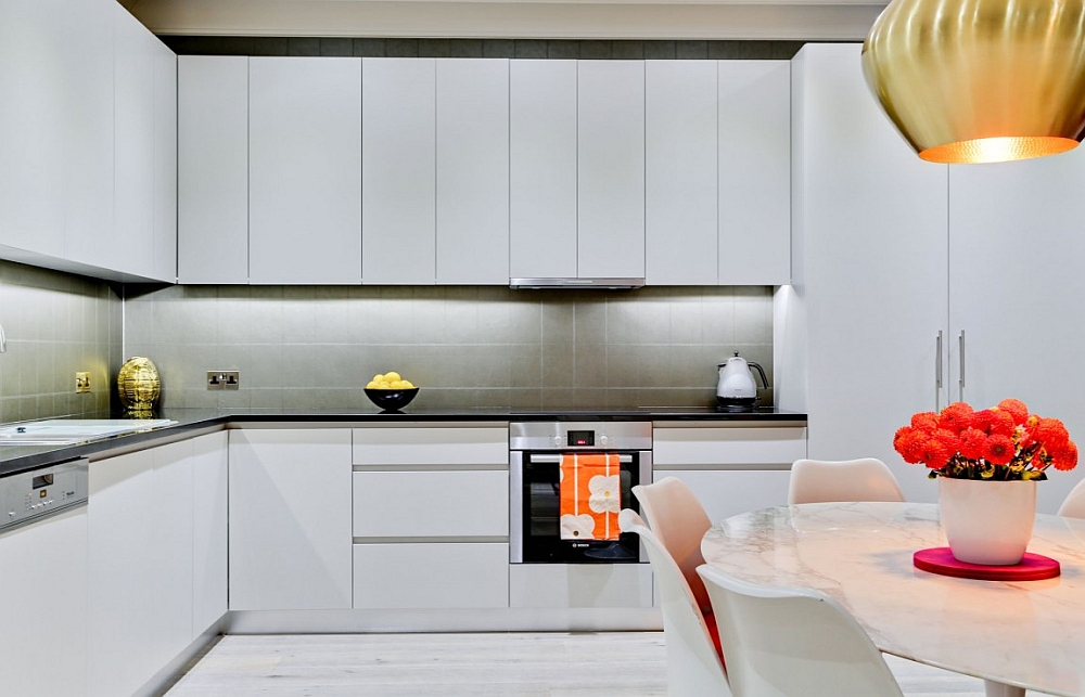
<instances>
[{"instance_id":1,"label":"long grey tiled backsplash on back wall, behind bowl and kettle","mask_svg":"<svg viewBox=\"0 0 1085 697\"><path fill-rule=\"evenodd\" d=\"M367 408L361 388L390 370L422 387L411 409L707 405L736 350L773 376L770 287L127 295L125 357L155 362L168 408ZM241 389L205 389L209 370L241 371Z\"/></svg>"}]
</instances>

